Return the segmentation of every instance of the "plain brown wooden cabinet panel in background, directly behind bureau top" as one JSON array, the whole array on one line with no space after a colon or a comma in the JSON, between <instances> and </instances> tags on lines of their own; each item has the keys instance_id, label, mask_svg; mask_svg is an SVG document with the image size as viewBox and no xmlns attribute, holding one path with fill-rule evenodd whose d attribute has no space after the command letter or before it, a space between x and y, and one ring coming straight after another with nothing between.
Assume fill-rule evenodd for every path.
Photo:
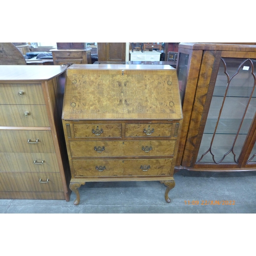
<instances>
[{"instance_id":1,"label":"plain brown wooden cabinet panel in background, directly behind bureau top","mask_svg":"<svg viewBox=\"0 0 256 256\"><path fill-rule=\"evenodd\" d=\"M125 42L98 42L98 61L125 61Z\"/></svg>"}]
</instances>

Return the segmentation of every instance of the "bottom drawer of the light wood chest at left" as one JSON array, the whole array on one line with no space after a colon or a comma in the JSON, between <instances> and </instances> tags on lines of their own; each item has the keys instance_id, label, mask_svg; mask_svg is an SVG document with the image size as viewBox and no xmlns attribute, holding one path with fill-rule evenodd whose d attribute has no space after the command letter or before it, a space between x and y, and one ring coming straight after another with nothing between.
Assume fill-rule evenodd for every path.
<instances>
[{"instance_id":1,"label":"bottom drawer of the light wood chest at left","mask_svg":"<svg viewBox=\"0 0 256 256\"><path fill-rule=\"evenodd\" d=\"M40 183L39 182L45 182ZM47 182L48 180L48 182ZM59 173L0 173L0 191L63 191Z\"/></svg>"}]
</instances>

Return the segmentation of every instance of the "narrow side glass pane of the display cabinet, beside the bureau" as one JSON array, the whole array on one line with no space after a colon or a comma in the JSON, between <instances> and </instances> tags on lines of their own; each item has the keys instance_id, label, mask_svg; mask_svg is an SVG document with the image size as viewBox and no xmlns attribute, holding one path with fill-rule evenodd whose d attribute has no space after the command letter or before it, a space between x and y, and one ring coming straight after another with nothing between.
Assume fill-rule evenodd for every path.
<instances>
[{"instance_id":1,"label":"narrow side glass pane of the display cabinet, beside the bureau","mask_svg":"<svg viewBox=\"0 0 256 256\"><path fill-rule=\"evenodd\" d=\"M184 99L184 92L186 90L188 57L189 57L188 54L180 53L179 67L177 69L177 75L178 75L179 87L180 87L180 97L181 97L182 104L183 104L183 99Z\"/></svg>"}]
</instances>

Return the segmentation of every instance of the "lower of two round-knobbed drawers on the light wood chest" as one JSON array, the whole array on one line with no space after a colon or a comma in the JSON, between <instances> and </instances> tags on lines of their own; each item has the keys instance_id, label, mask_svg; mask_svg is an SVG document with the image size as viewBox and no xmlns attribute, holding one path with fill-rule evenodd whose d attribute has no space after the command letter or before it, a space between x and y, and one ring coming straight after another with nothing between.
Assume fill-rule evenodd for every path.
<instances>
[{"instance_id":1,"label":"lower of two round-knobbed drawers on the light wood chest","mask_svg":"<svg viewBox=\"0 0 256 256\"><path fill-rule=\"evenodd\" d=\"M0 105L0 113L5 126L50 126L46 105Z\"/></svg>"}]
</instances>

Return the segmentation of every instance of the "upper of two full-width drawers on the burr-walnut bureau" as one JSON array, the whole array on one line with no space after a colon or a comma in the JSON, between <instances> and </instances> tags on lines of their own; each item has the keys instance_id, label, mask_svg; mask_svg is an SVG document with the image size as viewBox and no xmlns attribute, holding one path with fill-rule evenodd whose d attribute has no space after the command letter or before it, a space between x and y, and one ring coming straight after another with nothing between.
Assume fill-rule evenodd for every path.
<instances>
[{"instance_id":1,"label":"upper of two full-width drawers on the burr-walnut bureau","mask_svg":"<svg viewBox=\"0 0 256 256\"><path fill-rule=\"evenodd\" d=\"M70 141L72 157L173 156L176 140Z\"/></svg>"}]
</instances>

